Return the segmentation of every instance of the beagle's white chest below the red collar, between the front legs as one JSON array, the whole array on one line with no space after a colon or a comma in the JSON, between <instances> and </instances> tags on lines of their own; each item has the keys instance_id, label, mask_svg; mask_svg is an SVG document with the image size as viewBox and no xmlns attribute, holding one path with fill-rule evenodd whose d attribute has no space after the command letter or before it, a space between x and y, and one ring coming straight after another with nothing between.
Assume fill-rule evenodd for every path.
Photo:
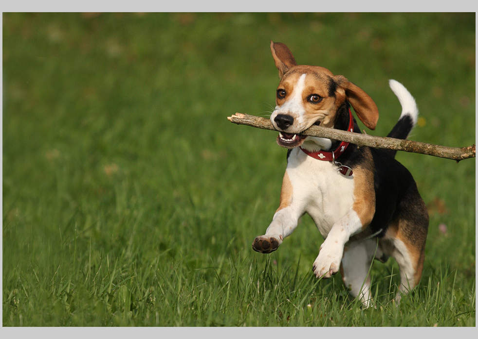
<instances>
[{"instance_id":1,"label":"beagle's white chest below the red collar, between the front legs","mask_svg":"<svg viewBox=\"0 0 478 339\"><path fill-rule=\"evenodd\" d=\"M314 159L299 148L289 155L287 174L292 184L294 208L307 212L324 238L353 204L353 176L344 176L337 166Z\"/></svg>"}]
</instances>

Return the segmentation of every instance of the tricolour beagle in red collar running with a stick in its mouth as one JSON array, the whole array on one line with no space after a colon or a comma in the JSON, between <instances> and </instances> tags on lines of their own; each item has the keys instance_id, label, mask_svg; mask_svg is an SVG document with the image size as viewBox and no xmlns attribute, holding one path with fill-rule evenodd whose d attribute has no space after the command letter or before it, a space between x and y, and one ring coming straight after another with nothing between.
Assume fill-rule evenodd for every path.
<instances>
[{"instance_id":1,"label":"tricolour beagle in red collar running with a stick in its mouth","mask_svg":"<svg viewBox=\"0 0 478 339\"><path fill-rule=\"evenodd\" d=\"M351 295L368 307L370 264L393 256L400 267L398 302L420 281L428 230L427 209L412 175L394 159L396 151L301 134L312 125L360 133L350 106L373 130L377 105L345 77L297 65L286 45L271 41L271 51L280 77L271 121L280 131L277 143L289 150L279 207L252 248L276 251L308 213L325 239L312 266L317 278L340 270ZM402 84L390 80L389 85L402 114L388 136L405 139L417 121L417 105Z\"/></svg>"}]
</instances>

